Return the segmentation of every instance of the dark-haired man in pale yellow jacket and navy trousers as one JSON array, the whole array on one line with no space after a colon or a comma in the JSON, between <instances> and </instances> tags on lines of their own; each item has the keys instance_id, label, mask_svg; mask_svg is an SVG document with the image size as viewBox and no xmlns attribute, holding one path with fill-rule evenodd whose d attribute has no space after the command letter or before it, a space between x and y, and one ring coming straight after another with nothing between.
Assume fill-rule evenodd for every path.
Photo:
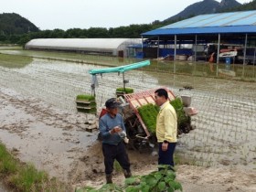
<instances>
[{"instance_id":1,"label":"dark-haired man in pale yellow jacket and navy trousers","mask_svg":"<svg viewBox=\"0 0 256 192\"><path fill-rule=\"evenodd\" d=\"M168 101L168 93L165 89L155 91L155 103L160 106L156 119L158 165L170 165L173 169L177 134L176 111Z\"/></svg>"}]
</instances>

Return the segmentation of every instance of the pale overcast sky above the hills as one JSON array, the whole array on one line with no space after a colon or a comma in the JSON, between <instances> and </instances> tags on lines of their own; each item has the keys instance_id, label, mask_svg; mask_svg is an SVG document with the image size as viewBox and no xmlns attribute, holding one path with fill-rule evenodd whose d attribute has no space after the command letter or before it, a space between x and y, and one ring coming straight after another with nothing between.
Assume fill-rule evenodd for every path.
<instances>
[{"instance_id":1,"label":"pale overcast sky above the hills","mask_svg":"<svg viewBox=\"0 0 256 192\"><path fill-rule=\"evenodd\" d=\"M200 0L0 0L0 14L19 14L41 30L109 28L162 21L197 2Z\"/></svg>"}]
</instances>

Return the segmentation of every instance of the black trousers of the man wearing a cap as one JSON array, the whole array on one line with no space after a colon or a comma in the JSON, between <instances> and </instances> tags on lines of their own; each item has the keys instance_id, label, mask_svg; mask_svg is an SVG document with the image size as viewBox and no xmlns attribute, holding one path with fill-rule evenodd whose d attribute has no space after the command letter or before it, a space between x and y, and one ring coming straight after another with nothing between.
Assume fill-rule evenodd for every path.
<instances>
[{"instance_id":1,"label":"black trousers of the man wearing a cap","mask_svg":"<svg viewBox=\"0 0 256 192\"><path fill-rule=\"evenodd\" d=\"M113 162L116 159L124 170L130 172L130 160L126 153L125 145L123 142L113 144L102 144L102 152L104 155L105 174L112 174Z\"/></svg>"}]
</instances>

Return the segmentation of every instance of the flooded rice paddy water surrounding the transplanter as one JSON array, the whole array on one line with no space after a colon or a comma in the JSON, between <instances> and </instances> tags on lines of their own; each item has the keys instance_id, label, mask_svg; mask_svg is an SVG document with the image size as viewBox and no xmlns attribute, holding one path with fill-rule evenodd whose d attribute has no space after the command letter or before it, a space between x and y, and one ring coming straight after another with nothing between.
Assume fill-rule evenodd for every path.
<instances>
[{"instance_id":1,"label":"flooded rice paddy water surrounding the transplanter","mask_svg":"<svg viewBox=\"0 0 256 192\"><path fill-rule=\"evenodd\" d=\"M75 97L91 93L88 70L97 68L103 67L48 59L7 68L0 61L0 141L51 176L77 176L80 164L74 159L94 143L96 133L85 132L84 123L95 117L77 113ZM125 79L134 91L165 86L177 96L192 96L192 106L198 110L192 117L196 129L179 138L176 154L181 163L256 172L256 82L163 70L132 70ZM101 108L123 86L123 77L103 74L98 81L96 99Z\"/></svg>"}]
</instances>

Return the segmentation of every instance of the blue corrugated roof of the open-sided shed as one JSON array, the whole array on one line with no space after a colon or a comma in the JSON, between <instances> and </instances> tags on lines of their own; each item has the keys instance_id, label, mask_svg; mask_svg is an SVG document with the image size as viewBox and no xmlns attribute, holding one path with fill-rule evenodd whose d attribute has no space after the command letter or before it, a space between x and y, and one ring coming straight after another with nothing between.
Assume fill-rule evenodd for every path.
<instances>
[{"instance_id":1,"label":"blue corrugated roof of the open-sided shed","mask_svg":"<svg viewBox=\"0 0 256 192\"><path fill-rule=\"evenodd\" d=\"M256 10L194 16L165 27L143 33L143 36L208 34L208 33L255 33Z\"/></svg>"}]
</instances>

